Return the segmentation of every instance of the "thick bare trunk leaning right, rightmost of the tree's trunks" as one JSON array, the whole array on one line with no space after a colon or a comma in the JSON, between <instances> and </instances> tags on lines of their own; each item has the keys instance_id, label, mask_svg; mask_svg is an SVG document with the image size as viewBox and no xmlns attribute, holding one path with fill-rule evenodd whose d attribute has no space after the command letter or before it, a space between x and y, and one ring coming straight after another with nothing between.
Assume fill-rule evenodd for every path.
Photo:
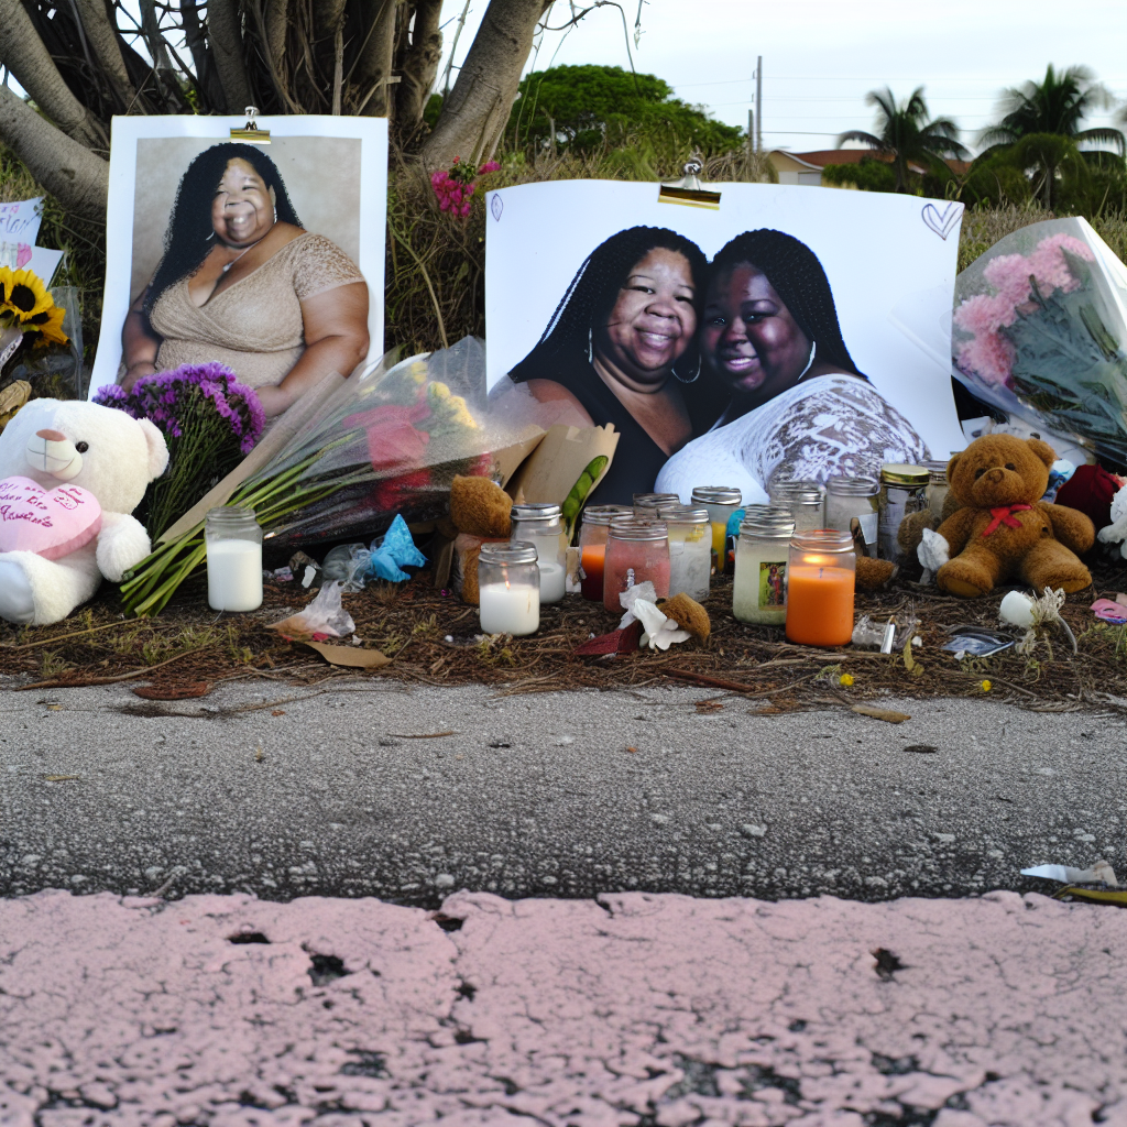
<instances>
[{"instance_id":1,"label":"thick bare trunk leaning right, rightmost of the tree's trunks","mask_svg":"<svg viewBox=\"0 0 1127 1127\"><path fill-rule=\"evenodd\" d=\"M429 168L455 157L487 160L508 122L536 24L550 0L489 0L481 26L442 114L421 150Z\"/></svg>"}]
</instances>

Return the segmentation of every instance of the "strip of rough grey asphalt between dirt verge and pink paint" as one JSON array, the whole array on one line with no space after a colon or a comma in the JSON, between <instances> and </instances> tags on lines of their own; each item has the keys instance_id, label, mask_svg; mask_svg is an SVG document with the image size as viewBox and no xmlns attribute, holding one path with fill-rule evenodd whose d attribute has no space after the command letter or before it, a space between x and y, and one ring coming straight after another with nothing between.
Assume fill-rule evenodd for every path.
<instances>
[{"instance_id":1,"label":"strip of rough grey asphalt between dirt verge and pink paint","mask_svg":"<svg viewBox=\"0 0 1127 1127\"><path fill-rule=\"evenodd\" d=\"M456 889L863 900L1127 878L1120 712L990 698L754 715L685 687L499 695L357 681L0 689L0 895Z\"/></svg>"}]
</instances>

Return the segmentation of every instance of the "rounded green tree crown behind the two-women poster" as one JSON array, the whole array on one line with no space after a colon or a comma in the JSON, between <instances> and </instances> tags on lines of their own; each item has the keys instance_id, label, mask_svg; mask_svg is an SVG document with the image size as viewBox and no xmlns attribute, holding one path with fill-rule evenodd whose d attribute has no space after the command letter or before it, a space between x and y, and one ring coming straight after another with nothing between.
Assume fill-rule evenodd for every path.
<instances>
[{"instance_id":1,"label":"rounded green tree crown behind the two-women poster","mask_svg":"<svg viewBox=\"0 0 1127 1127\"><path fill-rule=\"evenodd\" d=\"M672 144L704 156L727 152L746 140L735 126L674 98L668 83L654 74L593 64L553 66L526 76L506 139L516 149L592 152L605 143L659 151Z\"/></svg>"}]
</instances>

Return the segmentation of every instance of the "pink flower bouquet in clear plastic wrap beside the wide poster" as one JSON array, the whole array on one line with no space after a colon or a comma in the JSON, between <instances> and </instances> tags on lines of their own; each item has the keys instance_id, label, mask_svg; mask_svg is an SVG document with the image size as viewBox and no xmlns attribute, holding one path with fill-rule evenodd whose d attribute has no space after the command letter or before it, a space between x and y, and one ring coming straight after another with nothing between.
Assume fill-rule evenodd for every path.
<instances>
[{"instance_id":1,"label":"pink flower bouquet in clear plastic wrap beside the wide poster","mask_svg":"<svg viewBox=\"0 0 1127 1127\"><path fill-rule=\"evenodd\" d=\"M955 375L979 399L1127 462L1127 270L1083 219L1006 236L955 284Z\"/></svg>"}]
</instances>

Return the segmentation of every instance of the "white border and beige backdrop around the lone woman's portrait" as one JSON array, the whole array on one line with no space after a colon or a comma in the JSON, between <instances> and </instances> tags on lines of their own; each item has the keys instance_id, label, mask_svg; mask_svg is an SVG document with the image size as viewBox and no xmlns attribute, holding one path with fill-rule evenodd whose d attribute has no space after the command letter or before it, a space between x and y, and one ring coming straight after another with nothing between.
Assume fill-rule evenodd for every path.
<instances>
[{"instance_id":1,"label":"white border and beige backdrop around the lone woman's portrait","mask_svg":"<svg viewBox=\"0 0 1127 1127\"><path fill-rule=\"evenodd\" d=\"M305 115L256 124L269 131L270 144L259 148L276 167L300 225L334 242L367 282L369 355L382 355L387 119ZM245 125L245 117L113 119L106 286L91 397L118 380L125 319L161 261L181 177L194 158L230 142L230 131Z\"/></svg>"}]
</instances>

